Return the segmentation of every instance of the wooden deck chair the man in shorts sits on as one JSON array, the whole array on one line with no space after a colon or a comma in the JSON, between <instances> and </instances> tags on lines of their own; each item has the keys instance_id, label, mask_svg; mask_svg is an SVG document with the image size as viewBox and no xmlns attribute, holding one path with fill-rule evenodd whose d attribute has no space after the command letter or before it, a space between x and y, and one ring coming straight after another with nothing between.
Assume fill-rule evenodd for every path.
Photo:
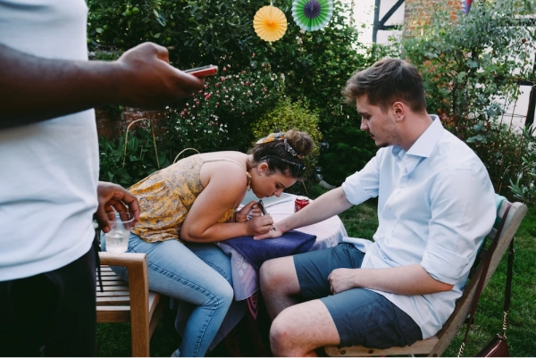
<instances>
[{"instance_id":1,"label":"wooden deck chair the man in shorts sits on","mask_svg":"<svg viewBox=\"0 0 536 358\"><path fill-rule=\"evenodd\" d=\"M506 200L498 207L497 216L502 219L504 212L509 203ZM521 203L513 203L510 211L507 214L507 221L502 230L500 237L498 237L498 246L495 252L491 256L490 267L486 279L484 280L484 288L488 285L491 276L497 270L498 263L502 259L503 255L507 252L510 242L514 238L515 231L519 228L521 221L525 213L527 212L527 206ZM497 229L491 229L488 238L494 239ZM479 256L482 262L482 257L487 254L485 250L481 250ZM325 352L331 357L368 357L376 355L415 355L416 357L437 358L447 349L448 345L456 337L457 331L462 327L469 312L471 310L471 303L476 293L477 278L481 276L482 265L473 267L473 271L470 274L470 279L464 289L464 294L456 301L456 307L452 315L445 322L443 328L433 337L415 342L411 346L403 347L391 347L389 349L375 349L367 348L365 346L348 346L338 348L337 346L326 346ZM482 288L483 289L483 288Z\"/></svg>"}]
</instances>

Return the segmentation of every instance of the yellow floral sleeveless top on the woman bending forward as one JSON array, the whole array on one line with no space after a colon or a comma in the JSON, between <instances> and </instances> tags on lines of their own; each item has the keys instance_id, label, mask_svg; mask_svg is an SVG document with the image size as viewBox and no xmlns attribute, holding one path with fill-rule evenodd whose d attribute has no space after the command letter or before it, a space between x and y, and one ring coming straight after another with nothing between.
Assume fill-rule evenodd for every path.
<instances>
[{"instance_id":1,"label":"yellow floral sleeveless top on the woman bending forward","mask_svg":"<svg viewBox=\"0 0 536 358\"><path fill-rule=\"evenodd\" d=\"M180 240L180 227L197 196L203 191L201 166L205 162L239 162L227 158L204 160L199 155L181 159L129 188L138 197L139 221L132 232L148 243ZM244 168L244 167L242 167ZM246 171L247 178L249 173ZM249 186L249 180L247 185ZM229 208L218 222L232 218L235 208Z\"/></svg>"}]
</instances>

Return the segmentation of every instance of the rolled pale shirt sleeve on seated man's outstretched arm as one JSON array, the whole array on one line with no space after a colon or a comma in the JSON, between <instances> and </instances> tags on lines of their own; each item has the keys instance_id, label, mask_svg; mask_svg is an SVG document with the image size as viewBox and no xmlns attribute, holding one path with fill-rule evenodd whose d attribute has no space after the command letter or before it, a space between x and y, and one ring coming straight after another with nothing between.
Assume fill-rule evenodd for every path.
<instances>
[{"instance_id":1,"label":"rolled pale shirt sleeve on seated man's outstretched arm","mask_svg":"<svg viewBox=\"0 0 536 358\"><path fill-rule=\"evenodd\" d=\"M348 203L357 205L371 197L378 196L380 187L379 161L378 155L374 156L361 171L356 171L342 183L342 190Z\"/></svg>"}]
</instances>

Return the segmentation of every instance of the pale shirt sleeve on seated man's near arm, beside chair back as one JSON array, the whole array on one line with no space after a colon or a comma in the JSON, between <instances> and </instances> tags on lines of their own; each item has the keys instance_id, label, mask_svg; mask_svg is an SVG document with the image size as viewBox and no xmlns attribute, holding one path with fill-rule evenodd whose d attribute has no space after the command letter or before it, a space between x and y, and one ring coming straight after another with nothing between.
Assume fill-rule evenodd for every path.
<instances>
[{"instance_id":1,"label":"pale shirt sleeve on seated man's near arm, beside chair back","mask_svg":"<svg viewBox=\"0 0 536 358\"><path fill-rule=\"evenodd\" d=\"M444 171L431 184L429 240L421 265L441 282L454 285L469 272L495 221L495 194L483 171Z\"/></svg>"}]
</instances>

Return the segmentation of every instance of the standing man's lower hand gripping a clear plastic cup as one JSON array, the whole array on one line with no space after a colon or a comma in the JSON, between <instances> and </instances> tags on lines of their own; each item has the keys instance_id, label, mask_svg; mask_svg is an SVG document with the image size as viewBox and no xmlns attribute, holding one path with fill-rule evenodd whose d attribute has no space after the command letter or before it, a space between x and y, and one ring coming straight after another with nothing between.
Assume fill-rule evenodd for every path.
<instances>
[{"instance_id":1,"label":"standing man's lower hand gripping a clear plastic cup","mask_svg":"<svg viewBox=\"0 0 536 358\"><path fill-rule=\"evenodd\" d=\"M130 212L134 216L134 224L139 220L139 204L136 196L130 191L117 184L99 181L96 187L98 208L96 209L96 221L104 232L110 231L110 222L106 212Z\"/></svg>"}]
</instances>

